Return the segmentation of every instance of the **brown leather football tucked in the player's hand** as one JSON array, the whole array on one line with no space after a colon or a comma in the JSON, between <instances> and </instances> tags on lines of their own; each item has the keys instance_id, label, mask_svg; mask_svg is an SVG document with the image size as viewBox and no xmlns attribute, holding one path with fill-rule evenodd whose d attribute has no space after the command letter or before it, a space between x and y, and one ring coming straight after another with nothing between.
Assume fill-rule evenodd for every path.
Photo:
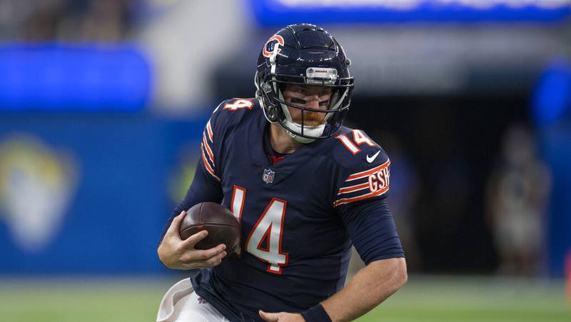
<instances>
[{"instance_id":1,"label":"brown leather football tucked in the player's hand","mask_svg":"<svg viewBox=\"0 0 571 322\"><path fill-rule=\"evenodd\" d=\"M186 211L179 233L186 239L198 231L208 231L208 236L196 243L196 249L213 248L221 243L231 254L240 245L241 228L236 217L226 207L213 202L197 203Z\"/></svg>"}]
</instances>

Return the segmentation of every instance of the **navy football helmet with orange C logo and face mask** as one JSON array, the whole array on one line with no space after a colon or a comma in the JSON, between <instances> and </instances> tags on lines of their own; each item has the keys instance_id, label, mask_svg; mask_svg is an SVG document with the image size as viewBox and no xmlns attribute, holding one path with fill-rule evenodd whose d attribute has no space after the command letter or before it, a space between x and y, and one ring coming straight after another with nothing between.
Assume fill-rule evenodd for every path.
<instances>
[{"instance_id":1,"label":"navy football helmet with orange C logo and face mask","mask_svg":"<svg viewBox=\"0 0 571 322\"><path fill-rule=\"evenodd\" d=\"M353 91L350 60L343 47L324 29L313 24L293 24L273 35L258 57L256 98L266 119L283 126L297 141L308 143L333 136L343 124ZM287 103L287 84L327 86L332 96L327 109L310 109ZM301 110L301 124L292 120L288 106ZM325 114L325 124L303 124L303 111Z\"/></svg>"}]
</instances>

